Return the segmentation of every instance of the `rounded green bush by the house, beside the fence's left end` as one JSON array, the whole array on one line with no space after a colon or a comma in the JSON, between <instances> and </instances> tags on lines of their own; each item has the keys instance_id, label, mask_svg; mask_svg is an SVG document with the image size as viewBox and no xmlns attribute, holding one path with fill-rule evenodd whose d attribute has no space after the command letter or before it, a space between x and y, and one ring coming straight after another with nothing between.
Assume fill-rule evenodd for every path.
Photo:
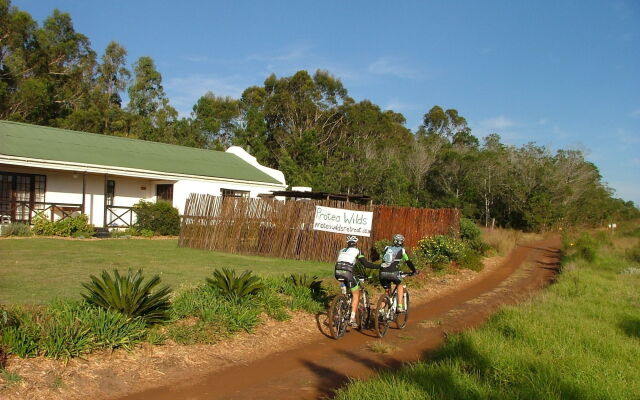
<instances>
[{"instance_id":1,"label":"rounded green bush by the house, beside the fence's left end","mask_svg":"<svg viewBox=\"0 0 640 400\"><path fill-rule=\"evenodd\" d=\"M180 214L171 204L160 201L140 201L134 206L137 215L135 228L139 232L151 231L156 235L180 234Z\"/></svg>"}]
</instances>

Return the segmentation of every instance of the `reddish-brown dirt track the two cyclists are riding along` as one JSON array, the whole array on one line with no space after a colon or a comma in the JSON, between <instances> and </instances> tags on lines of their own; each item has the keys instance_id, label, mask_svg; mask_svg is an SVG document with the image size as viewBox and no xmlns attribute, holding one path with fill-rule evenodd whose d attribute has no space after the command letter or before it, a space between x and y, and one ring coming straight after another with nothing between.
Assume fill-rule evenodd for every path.
<instances>
[{"instance_id":1,"label":"reddish-brown dirt track the two cyclists are riding along","mask_svg":"<svg viewBox=\"0 0 640 400\"><path fill-rule=\"evenodd\" d=\"M501 305L528 298L551 283L557 273L560 240L551 237L516 248L490 274L445 296L415 306L403 330L389 329L384 339L373 331L323 338L276 353L248 365L212 372L180 385L159 387L124 397L141 399L322 399L351 378L367 378L384 369L428 359L448 333L481 324ZM325 316L319 316L324 331ZM430 322L429 322L430 321ZM435 321L435 322L434 322ZM382 341L395 348L377 354L368 345Z\"/></svg>"}]
</instances>

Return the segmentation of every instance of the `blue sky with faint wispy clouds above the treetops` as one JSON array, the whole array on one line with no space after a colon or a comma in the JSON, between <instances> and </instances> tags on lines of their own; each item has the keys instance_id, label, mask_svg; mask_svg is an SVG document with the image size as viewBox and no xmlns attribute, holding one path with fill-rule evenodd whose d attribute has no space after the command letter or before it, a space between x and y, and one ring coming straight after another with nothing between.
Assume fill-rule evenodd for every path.
<instances>
[{"instance_id":1,"label":"blue sky with faint wispy clouds above the treetops","mask_svg":"<svg viewBox=\"0 0 640 400\"><path fill-rule=\"evenodd\" d=\"M640 205L640 1L13 0L69 12L99 56L151 56L188 116L207 91L239 97L271 73L325 69L356 101L417 128L455 108L479 138L581 149Z\"/></svg>"}]
</instances>

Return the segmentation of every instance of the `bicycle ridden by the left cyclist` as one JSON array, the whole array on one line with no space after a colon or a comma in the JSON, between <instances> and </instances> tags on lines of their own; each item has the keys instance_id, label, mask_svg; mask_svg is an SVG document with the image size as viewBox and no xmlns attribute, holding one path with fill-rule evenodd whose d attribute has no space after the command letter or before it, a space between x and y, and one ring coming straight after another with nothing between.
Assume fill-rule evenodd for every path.
<instances>
[{"instance_id":1,"label":"bicycle ridden by the left cyclist","mask_svg":"<svg viewBox=\"0 0 640 400\"><path fill-rule=\"evenodd\" d=\"M358 329L363 330L371 326L371 305L369 304L369 293L364 287L367 277L356 277L360 286L360 301L356 310L356 322ZM329 305L329 331L334 339L340 339L347 332L349 319L351 318L351 299L353 294L350 290L344 290L337 295Z\"/></svg>"}]
</instances>

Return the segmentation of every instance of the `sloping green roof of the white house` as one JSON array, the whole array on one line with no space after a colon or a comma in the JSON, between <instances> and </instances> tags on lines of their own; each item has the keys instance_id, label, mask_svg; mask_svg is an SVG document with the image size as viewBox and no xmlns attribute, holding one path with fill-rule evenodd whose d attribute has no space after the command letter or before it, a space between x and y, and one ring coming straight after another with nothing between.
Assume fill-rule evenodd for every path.
<instances>
[{"instance_id":1,"label":"sloping green roof of the white house","mask_svg":"<svg viewBox=\"0 0 640 400\"><path fill-rule=\"evenodd\" d=\"M203 177L280 183L235 154L0 121L0 154Z\"/></svg>"}]
</instances>

